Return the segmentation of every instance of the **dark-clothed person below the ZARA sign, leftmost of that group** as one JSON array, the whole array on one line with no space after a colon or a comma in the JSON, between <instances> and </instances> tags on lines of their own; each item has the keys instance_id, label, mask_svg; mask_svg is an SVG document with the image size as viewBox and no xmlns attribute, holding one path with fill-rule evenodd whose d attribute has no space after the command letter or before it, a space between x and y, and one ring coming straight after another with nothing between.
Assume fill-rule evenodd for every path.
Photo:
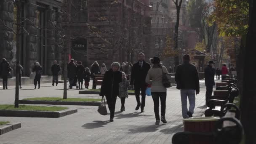
<instances>
[{"instance_id":1,"label":"dark-clothed person below the ZARA sign, leftmost of that group","mask_svg":"<svg viewBox=\"0 0 256 144\"><path fill-rule=\"evenodd\" d=\"M69 78L69 88L72 89L74 86L75 76L77 75L77 66L74 63L74 59L71 59L69 64L67 65L68 78Z\"/></svg>"}]
</instances>

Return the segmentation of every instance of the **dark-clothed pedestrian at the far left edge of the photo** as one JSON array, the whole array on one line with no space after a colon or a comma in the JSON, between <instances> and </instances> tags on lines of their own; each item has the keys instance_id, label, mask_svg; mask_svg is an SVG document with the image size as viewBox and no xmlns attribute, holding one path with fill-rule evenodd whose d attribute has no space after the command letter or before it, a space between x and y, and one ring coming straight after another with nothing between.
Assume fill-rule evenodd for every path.
<instances>
[{"instance_id":1,"label":"dark-clothed pedestrian at the far left edge of the photo","mask_svg":"<svg viewBox=\"0 0 256 144\"><path fill-rule=\"evenodd\" d=\"M10 67L10 64L6 59L2 59L2 62L0 64L0 76L3 79L3 90L8 89L8 77L11 75L11 71L13 69Z\"/></svg>"}]
</instances>

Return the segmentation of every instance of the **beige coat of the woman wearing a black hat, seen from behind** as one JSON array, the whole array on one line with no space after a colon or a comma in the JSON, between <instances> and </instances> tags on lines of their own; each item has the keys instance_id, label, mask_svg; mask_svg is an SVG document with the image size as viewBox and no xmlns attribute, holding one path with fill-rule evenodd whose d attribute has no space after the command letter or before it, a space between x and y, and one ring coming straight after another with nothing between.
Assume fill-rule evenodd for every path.
<instances>
[{"instance_id":1,"label":"beige coat of the woman wearing a black hat, seen from behind","mask_svg":"<svg viewBox=\"0 0 256 144\"><path fill-rule=\"evenodd\" d=\"M166 67L162 67L163 73L168 73ZM162 69L160 67L149 69L146 83L151 85L151 92L166 92L162 83ZM169 77L168 77L169 78Z\"/></svg>"}]
</instances>

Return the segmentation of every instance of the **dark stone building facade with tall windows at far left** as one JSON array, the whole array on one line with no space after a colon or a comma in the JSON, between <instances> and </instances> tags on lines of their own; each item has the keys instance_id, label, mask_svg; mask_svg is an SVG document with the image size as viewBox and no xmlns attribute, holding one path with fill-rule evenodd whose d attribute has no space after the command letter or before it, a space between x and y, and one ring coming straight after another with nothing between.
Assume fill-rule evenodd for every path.
<instances>
[{"instance_id":1,"label":"dark stone building facade with tall windows at far left","mask_svg":"<svg viewBox=\"0 0 256 144\"><path fill-rule=\"evenodd\" d=\"M16 3L21 2L17 11ZM21 18L20 61L24 76L29 76L35 61L43 67L43 75L51 75L53 60L61 61L61 50L56 43L61 21L62 0L1 0L0 1L0 58L6 58L11 67L16 63L16 19ZM15 72L15 70L14 70Z\"/></svg>"}]
</instances>

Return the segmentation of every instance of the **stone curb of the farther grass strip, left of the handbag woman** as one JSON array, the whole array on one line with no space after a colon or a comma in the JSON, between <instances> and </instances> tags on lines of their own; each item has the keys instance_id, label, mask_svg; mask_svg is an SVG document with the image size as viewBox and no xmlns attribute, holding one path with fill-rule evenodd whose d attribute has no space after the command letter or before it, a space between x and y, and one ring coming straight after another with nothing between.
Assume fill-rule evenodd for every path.
<instances>
[{"instance_id":1,"label":"stone curb of the farther grass strip, left of the handbag woman","mask_svg":"<svg viewBox=\"0 0 256 144\"><path fill-rule=\"evenodd\" d=\"M51 104L51 105L77 105L77 106L99 106L101 102L84 102L84 101L32 101L19 100L19 104Z\"/></svg>"}]
</instances>

